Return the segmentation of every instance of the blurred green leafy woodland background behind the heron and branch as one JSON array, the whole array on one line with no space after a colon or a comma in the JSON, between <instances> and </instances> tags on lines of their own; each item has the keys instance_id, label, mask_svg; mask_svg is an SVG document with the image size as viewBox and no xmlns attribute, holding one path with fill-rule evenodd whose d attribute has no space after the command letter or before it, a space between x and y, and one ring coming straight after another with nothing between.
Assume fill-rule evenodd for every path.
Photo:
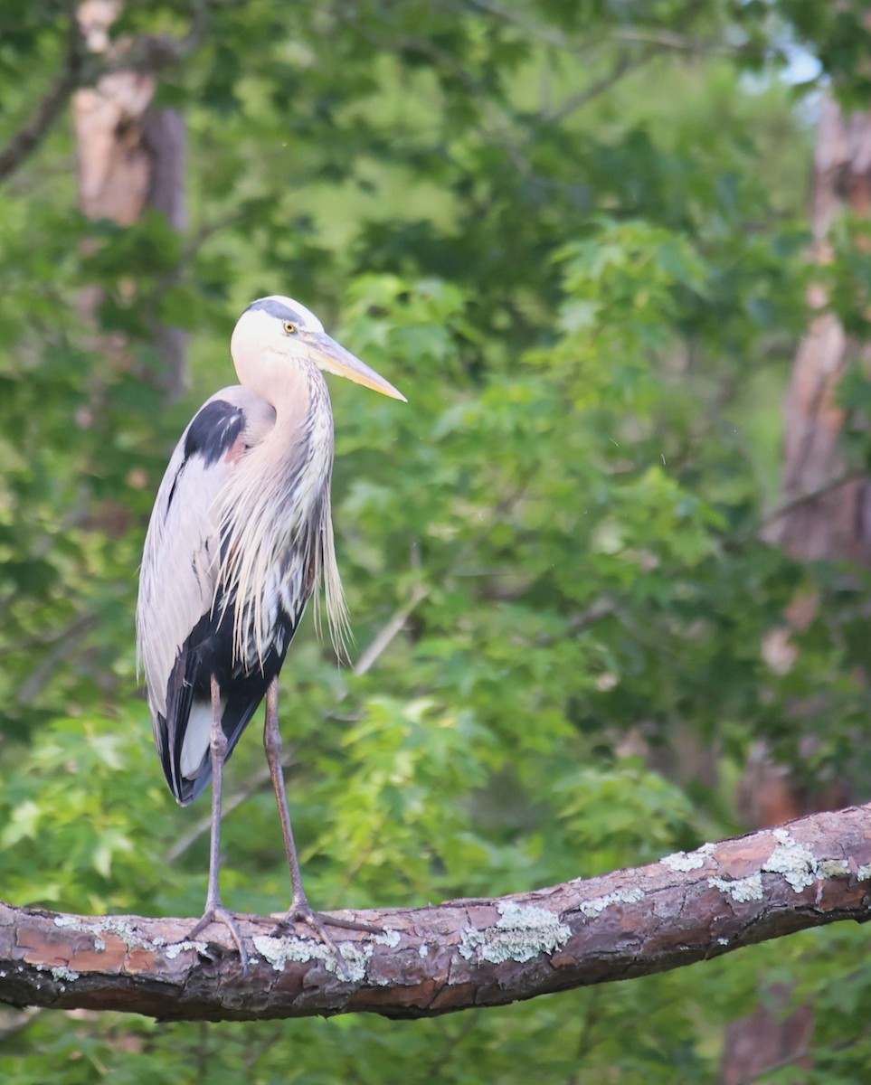
<instances>
[{"instance_id":1,"label":"blurred green leafy woodland background behind the heron and branch","mask_svg":"<svg viewBox=\"0 0 871 1085\"><path fill-rule=\"evenodd\" d=\"M864 508L860 138L808 208L870 46L853 2L5 0L3 896L199 914L207 810L172 805L151 750L136 570L236 317L276 292L409 398L333 388L357 667L308 625L282 676L316 905L529 889L868 799L868 551L800 540L845 523L844 487ZM793 378L784 471L820 321L841 348L824 395ZM267 912L255 738L224 884ZM858 1083L866 944L416 1023L8 1011L0 1059L16 1085ZM760 1005L800 1027L736 1070Z\"/></svg>"}]
</instances>

